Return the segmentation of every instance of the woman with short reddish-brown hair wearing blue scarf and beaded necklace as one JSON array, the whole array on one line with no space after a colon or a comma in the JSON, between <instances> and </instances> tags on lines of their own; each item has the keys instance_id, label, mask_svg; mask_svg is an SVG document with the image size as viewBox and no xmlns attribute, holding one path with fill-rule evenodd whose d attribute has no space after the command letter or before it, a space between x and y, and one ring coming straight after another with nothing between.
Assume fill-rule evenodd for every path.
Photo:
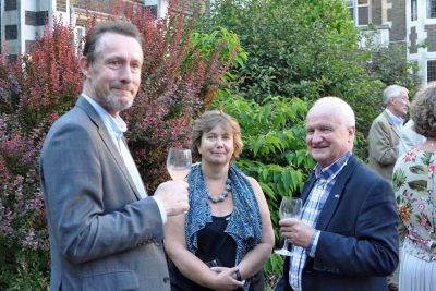
<instances>
[{"instance_id":1,"label":"woman with short reddish-brown hair wearing blue scarf and beaded necklace","mask_svg":"<svg viewBox=\"0 0 436 291\"><path fill-rule=\"evenodd\" d=\"M258 182L231 162L241 151L230 116L206 111L194 122L192 153L201 162L187 177L190 210L166 223L173 291L264 290L272 223Z\"/></svg>"}]
</instances>

